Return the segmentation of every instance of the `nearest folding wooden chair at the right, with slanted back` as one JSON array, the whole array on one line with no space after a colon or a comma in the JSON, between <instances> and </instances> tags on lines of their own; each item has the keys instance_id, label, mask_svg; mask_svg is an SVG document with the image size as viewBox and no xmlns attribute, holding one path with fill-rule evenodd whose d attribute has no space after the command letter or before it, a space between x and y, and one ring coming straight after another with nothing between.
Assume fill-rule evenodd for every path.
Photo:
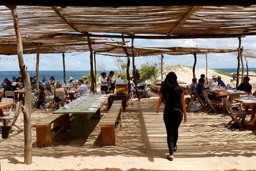
<instances>
[{"instance_id":1,"label":"nearest folding wooden chair at the right, with slanted back","mask_svg":"<svg viewBox=\"0 0 256 171\"><path fill-rule=\"evenodd\" d=\"M247 115L250 115L250 113L245 111L233 111L231 102L229 101L229 99L224 98L223 101L224 101L226 110L228 112L228 115L231 117L231 121L227 123L227 127L229 128L233 122L237 123L239 127L244 127L243 123L244 123L245 117Z\"/></svg>"}]
</instances>

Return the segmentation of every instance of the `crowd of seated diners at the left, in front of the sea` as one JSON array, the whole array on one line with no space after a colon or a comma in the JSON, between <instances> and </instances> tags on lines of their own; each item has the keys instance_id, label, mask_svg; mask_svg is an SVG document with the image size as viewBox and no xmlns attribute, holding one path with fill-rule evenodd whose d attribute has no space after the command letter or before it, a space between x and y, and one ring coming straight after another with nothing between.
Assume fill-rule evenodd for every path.
<instances>
[{"instance_id":1,"label":"crowd of seated diners at the left, in front of the sea","mask_svg":"<svg viewBox=\"0 0 256 171\"><path fill-rule=\"evenodd\" d=\"M68 103L69 100L72 101L76 98L75 94L82 96L90 91L87 87L87 77L83 77L83 80L74 80L73 77L70 77L69 83L67 83L66 86L62 85L60 81L56 82L54 76L51 76L50 80L43 76L43 79L38 81L38 88L36 87L36 76L30 77L30 83L34 97L32 99L35 99L36 109L40 109L41 106L46 109L46 96L54 96L54 102L57 103L61 101ZM13 77L12 81L10 81L8 78L5 78L1 84L1 88L3 88L3 90L0 94L0 98L13 98L6 96L5 92L22 90L24 88L24 79L23 77ZM72 90L70 91L71 93L69 93L68 90ZM18 100L17 94L15 95L15 100ZM24 101L22 93L19 95L19 101Z\"/></svg>"}]
</instances>

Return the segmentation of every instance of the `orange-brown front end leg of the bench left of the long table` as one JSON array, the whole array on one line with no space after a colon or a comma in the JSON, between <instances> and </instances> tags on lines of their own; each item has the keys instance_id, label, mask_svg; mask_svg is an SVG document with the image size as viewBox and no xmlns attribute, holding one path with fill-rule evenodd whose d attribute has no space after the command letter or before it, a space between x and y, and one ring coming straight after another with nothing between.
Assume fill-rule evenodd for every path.
<instances>
[{"instance_id":1,"label":"orange-brown front end leg of the bench left of the long table","mask_svg":"<svg viewBox=\"0 0 256 171\"><path fill-rule=\"evenodd\" d=\"M52 146L51 126L36 128L36 144L38 148Z\"/></svg>"}]
</instances>

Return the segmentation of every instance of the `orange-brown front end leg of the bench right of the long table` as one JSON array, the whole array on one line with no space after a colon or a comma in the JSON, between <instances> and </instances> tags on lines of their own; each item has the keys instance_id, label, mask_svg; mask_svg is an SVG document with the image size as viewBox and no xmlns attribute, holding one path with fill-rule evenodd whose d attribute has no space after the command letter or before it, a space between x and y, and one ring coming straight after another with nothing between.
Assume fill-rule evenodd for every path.
<instances>
[{"instance_id":1,"label":"orange-brown front end leg of the bench right of the long table","mask_svg":"<svg viewBox=\"0 0 256 171\"><path fill-rule=\"evenodd\" d=\"M113 127L101 127L101 144L107 146L116 145L116 136L114 125Z\"/></svg>"}]
</instances>

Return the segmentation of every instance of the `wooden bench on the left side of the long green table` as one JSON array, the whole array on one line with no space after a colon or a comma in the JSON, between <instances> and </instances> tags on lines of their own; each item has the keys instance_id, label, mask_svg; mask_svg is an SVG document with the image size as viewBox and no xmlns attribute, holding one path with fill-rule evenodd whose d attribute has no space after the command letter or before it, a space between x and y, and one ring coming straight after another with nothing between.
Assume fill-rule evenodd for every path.
<instances>
[{"instance_id":1,"label":"wooden bench on the left side of the long green table","mask_svg":"<svg viewBox=\"0 0 256 171\"><path fill-rule=\"evenodd\" d=\"M49 115L38 120L33 127L36 128L37 147L52 146L53 138L69 127L69 115Z\"/></svg>"}]
</instances>

